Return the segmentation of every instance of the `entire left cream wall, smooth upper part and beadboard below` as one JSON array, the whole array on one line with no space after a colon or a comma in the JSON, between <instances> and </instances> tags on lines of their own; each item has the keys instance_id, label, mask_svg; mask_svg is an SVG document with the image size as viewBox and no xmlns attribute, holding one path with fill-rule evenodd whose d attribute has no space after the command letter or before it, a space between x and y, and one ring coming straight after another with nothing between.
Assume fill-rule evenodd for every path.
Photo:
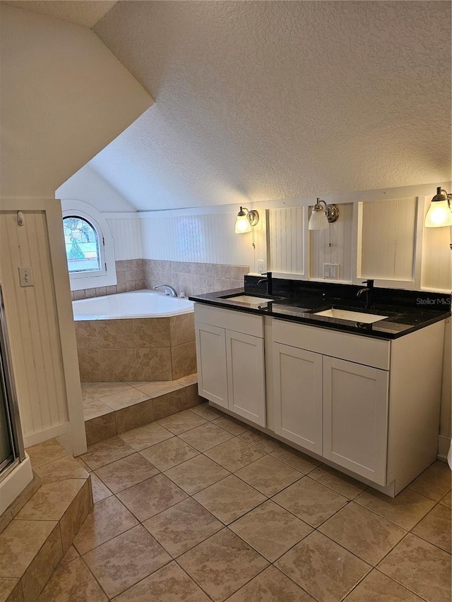
<instances>
[{"instance_id":1,"label":"entire left cream wall, smooth upper part and beadboard below","mask_svg":"<svg viewBox=\"0 0 452 602\"><path fill-rule=\"evenodd\" d=\"M0 4L0 44L0 282L25 444L61 435L80 454L76 339L53 197L153 100L81 26ZM18 267L29 265L35 286L23 289Z\"/></svg>"}]
</instances>

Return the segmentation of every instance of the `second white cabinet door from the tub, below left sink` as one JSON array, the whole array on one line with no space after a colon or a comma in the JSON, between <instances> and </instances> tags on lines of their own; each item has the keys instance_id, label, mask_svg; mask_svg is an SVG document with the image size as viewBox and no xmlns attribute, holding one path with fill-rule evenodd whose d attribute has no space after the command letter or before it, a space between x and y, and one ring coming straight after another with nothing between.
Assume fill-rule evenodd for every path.
<instances>
[{"instance_id":1,"label":"second white cabinet door from the tub, below left sink","mask_svg":"<svg viewBox=\"0 0 452 602\"><path fill-rule=\"evenodd\" d=\"M263 339L226 331L229 409L266 426L266 385Z\"/></svg>"}]
</instances>

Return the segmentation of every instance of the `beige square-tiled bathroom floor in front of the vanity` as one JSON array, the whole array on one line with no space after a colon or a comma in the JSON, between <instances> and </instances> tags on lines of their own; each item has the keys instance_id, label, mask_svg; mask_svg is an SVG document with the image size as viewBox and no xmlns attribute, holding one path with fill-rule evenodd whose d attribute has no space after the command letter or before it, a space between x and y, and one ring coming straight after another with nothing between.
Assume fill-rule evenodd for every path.
<instances>
[{"instance_id":1,"label":"beige square-tiled bathroom floor in front of the vanity","mask_svg":"<svg viewBox=\"0 0 452 602\"><path fill-rule=\"evenodd\" d=\"M39 602L446 602L451 473L396 498L201 404L88 448L94 510Z\"/></svg>"}]
</instances>

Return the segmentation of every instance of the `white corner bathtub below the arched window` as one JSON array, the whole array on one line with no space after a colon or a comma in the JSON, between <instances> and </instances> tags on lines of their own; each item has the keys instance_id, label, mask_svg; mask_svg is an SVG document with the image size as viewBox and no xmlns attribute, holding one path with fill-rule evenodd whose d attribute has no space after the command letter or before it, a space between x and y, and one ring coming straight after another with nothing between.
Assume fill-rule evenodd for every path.
<instances>
[{"instance_id":1,"label":"white corner bathtub below the arched window","mask_svg":"<svg viewBox=\"0 0 452 602\"><path fill-rule=\"evenodd\" d=\"M160 291L133 291L72 301L73 319L164 318L193 312L193 301Z\"/></svg>"}]
</instances>

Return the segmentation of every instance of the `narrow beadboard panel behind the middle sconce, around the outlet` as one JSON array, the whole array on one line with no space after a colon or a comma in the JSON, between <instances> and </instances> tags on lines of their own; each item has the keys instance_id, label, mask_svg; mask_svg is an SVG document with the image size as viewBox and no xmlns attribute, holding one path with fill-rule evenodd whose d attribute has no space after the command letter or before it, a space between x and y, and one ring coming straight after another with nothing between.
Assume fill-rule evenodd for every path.
<instances>
[{"instance_id":1,"label":"narrow beadboard panel behind the middle sconce, around the outlet","mask_svg":"<svg viewBox=\"0 0 452 602\"><path fill-rule=\"evenodd\" d=\"M338 221L325 230L309 231L309 277L323 278L323 263L338 265L338 280L352 279L352 203L339 205ZM331 246L330 246L331 243Z\"/></svg>"}]
</instances>

